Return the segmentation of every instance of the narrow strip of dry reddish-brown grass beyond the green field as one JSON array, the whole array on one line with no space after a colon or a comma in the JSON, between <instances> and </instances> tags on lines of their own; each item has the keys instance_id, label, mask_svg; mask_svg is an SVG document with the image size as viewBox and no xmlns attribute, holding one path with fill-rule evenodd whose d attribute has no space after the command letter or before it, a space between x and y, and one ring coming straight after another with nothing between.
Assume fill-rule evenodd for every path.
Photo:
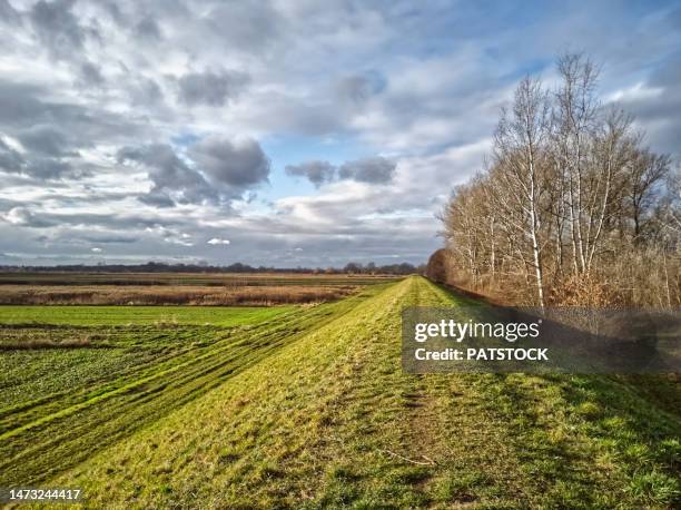
<instances>
[{"instance_id":1,"label":"narrow strip of dry reddish-brown grass beyond the green field","mask_svg":"<svg viewBox=\"0 0 681 510\"><path fill-rule=\"evenodd\" d=\"M355 288L352 285L1 285L0 304L269 306L327 302L344 297Z\"/></svg>"}]
</instances>

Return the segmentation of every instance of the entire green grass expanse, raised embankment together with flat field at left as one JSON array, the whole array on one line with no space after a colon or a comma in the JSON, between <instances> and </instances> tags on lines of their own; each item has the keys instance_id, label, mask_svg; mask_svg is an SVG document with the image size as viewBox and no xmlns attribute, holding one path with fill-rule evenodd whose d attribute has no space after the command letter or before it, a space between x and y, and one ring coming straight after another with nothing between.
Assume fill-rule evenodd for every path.
<instances>
[{"instance_id":1,"label":"entire green grass expanse, raised embankment together with flat field at left","mask_svg":"<svg viewBox=\"0 0 681 510\"><path fill-rule=\"evenodd\" d=\"M412 276L306 305L2 307L0 484L92 508L681 504L673 377L404 374L402 308L461 304Z\"/></svg>"}]
</instances>

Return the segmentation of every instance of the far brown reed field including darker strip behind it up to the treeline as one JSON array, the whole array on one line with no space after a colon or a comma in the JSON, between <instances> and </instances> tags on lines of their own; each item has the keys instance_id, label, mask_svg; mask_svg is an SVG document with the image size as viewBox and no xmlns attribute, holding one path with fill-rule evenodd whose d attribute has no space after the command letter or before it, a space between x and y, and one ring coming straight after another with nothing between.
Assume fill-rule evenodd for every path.
<instances>
[{"instance_id":1,"label":"far brown reed field including darker strip behind it up to the treeline","mask_svg":"<svg viewBox=\"0 0 681 510\"><path fill-rule=\"evenodd\" d=\"M324 303L386 276L310 274L0 274L2 305L270 306Z\"/></svg>"}]
</instances>

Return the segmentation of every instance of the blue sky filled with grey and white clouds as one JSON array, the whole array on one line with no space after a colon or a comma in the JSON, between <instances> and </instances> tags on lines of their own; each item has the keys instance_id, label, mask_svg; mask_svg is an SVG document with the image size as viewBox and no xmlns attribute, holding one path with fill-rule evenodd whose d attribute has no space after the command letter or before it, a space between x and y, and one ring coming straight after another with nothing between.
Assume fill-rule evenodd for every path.
<instances>
[{"instance_id":1,"label":"blue sky filled with grey and white clouds","mask_svg":"<svg viewBox=\"0 0 681 510\"><path fill-rule=\"evenodd\" d=\"M678 160L679 1L0 0L0 265L423 263L565 51Z\"/></svg>"}]
</instances>

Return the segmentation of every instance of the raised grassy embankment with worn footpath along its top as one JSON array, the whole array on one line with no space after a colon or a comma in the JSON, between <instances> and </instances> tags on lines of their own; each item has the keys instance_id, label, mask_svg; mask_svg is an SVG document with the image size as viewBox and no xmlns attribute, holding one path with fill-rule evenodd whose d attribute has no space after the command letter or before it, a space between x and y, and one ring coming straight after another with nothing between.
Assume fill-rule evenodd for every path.
<instances>
[{"instance_id":1,"label":"raised grassy embankment with worn footpath along its top","mask_svg":"<svg viewBox=\"0 0 681 510\"><path fill-rule=\"evenodd\" d=\"M457 300L397 283L51 482L107 508L679 504L672 382L403 374L401 308Z\"/></svg>"}]
</instances>

